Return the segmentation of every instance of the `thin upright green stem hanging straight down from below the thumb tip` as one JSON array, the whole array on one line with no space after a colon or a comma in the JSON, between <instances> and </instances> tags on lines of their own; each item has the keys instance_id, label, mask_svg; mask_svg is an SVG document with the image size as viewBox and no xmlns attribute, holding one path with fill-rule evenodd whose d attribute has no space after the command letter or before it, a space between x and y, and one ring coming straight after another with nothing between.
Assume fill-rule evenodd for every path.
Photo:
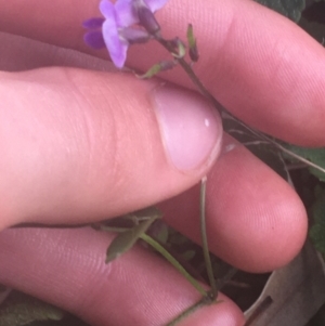
<instances>
[{"instance_id":1,"label":"thin upright green stem hanging straight down from below the thumb tip","mask_svg":"<svg viewBox=\"0 0 325 326\"><path fill-rule=\"evenodd\" d=\"M200 237L208 273L208 278L211 286L211 296L217 298L217 284L213 275L213 269L211 264L211 258L209 252L208 237L207 237L207 225L206 225L206 188L207 188L207 177L203 178L200 183L200 195L199 195L199 214L200 214Z\"/></svg>"}]
</instances>

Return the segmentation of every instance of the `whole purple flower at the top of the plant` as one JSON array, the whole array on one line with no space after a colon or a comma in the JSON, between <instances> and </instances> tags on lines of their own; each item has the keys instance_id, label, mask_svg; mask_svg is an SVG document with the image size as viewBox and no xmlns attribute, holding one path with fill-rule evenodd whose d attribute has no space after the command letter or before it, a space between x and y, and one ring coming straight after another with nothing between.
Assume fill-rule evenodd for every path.
<instances>
[{"instance_id":1,"label":"whole purple flower at the top of the plant","mask_svg":"<svg viewBox=\"0 0 325 326\"><path fill-rule=\"evenodd\" d=\"M90 29L84 35L84 41L94 49L106 47L115 66L121 68L129 45L147 41L150 32L157 30L153 13L166 2L167 0L117 0L113 4L108 0L102 0L100 11L104 17L83 23L83 27ZM147 30L131 27L136 24Z\"/></svg>"}]
</instances>

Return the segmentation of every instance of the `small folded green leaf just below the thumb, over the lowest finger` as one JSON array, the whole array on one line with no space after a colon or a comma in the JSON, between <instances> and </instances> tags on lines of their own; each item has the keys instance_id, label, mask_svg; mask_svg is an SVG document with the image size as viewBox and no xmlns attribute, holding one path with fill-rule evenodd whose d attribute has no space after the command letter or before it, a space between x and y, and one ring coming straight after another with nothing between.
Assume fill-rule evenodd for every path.
<instances>
[{"instance_id":1,"label":"small folded green leaf just below the thumb, over the lowest finger","mask_svg":"<svg viewBox=\"0 0 325 326\"><path fill-rule=\"evenodd\" d=\"M139 220L143 222L129 229L126 232L118 234L112 242L106 251L106 263L127 252L133 247L136 240L147 231L152 223L160 218L160 212L155 208L147 208L145 210L133 213Z\"/></svg>"}]
</instances>

